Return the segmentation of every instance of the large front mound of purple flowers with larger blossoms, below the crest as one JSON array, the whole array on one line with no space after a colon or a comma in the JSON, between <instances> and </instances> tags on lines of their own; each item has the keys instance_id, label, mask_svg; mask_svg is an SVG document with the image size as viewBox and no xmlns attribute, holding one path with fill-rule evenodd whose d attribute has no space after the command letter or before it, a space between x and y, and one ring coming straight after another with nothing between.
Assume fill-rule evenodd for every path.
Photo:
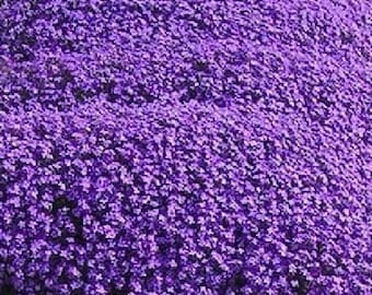
<instances>
[{"instance_id":1,"label":"large front mound of purple flowers with larger blossoms, below the crest","mask_svg":"<svg viewBox=\"0 0 372 295\"><path fill-rule=\"evenodd\" d=\"M15 294L369 290L364 158L316 125L197 103L0 122L0 270Z\"/></svg>"}]
</instances>

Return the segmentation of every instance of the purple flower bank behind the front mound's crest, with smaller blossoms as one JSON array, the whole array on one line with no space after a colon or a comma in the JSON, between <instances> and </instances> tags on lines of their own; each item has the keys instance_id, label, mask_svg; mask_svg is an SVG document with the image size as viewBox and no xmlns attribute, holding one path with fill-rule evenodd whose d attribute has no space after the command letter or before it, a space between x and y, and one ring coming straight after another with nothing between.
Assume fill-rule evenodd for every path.
<instances>
[{"instance_id":1,"label":"purple flower bank behind the front mound's crest, with smaller blossoms","mask_svg":"<svg viewBox=\"0 0 372 295\"><path fill-rule=\"evenodd\" d=\"M195 99L324 120L371 96L367 0L4 2L4 110Z\"/></svg>"}]
</instances>

